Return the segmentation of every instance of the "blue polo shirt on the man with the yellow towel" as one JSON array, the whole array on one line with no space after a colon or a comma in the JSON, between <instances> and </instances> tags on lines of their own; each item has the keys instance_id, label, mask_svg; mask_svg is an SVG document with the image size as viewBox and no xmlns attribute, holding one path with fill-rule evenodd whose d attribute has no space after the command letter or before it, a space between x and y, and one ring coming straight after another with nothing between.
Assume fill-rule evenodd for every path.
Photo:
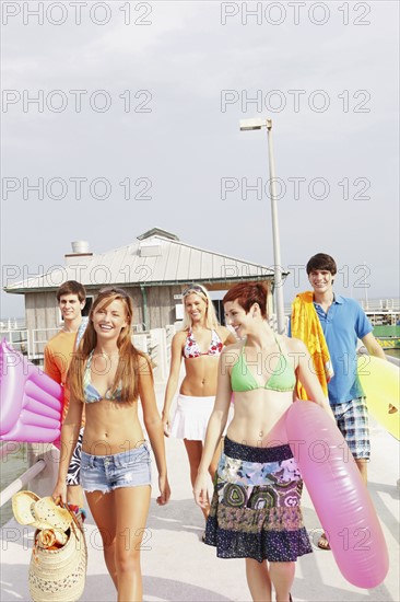
<instances>
[{"instance_id":1,"label":"blue polo shirt on the man with the yellow towel","mask_svg":"<svg viewBox=\"0 0 400 602\"><path fill-rule=\"evenodd\" d=\"M348 297L334 296L333 303L325 313L314 303L332 361L334 377L328 383L331 405L350 402L364 395L357 377L357 338L373 331L361 305Z\"/></svg>"}]
</instances>

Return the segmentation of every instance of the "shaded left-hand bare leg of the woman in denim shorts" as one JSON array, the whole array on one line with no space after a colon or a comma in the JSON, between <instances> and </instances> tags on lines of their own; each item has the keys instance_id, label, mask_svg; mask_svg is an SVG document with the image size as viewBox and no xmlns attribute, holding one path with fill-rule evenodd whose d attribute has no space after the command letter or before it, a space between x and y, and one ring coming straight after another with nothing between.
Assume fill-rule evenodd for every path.
<instances>
[{"instance_id":1,"label":"shaded left-hand bare leg of the woman in denim shorts","mask_svg":"<svg viewBox=\"0 0 400 602\"><path fill-rule=\"evenodd\" d=\"M104 559L108 572L118 589L117 568L115 563L116 508L113 493L86 491L86 499L94 521L103 540Z\"/></svg>"}]
</instances>

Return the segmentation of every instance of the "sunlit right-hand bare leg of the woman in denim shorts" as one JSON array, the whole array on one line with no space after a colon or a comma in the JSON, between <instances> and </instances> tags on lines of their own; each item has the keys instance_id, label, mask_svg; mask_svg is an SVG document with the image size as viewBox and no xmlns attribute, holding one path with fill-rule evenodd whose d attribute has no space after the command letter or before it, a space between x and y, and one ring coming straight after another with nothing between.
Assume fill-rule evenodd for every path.
<instances>
[{"instance_id":1,"label":"sunlit right-hand bare leg of the woman in denim shorts","mask_svg":"<svg viewBox=\"0 0 400 602\"><path fill-rule=\"evenodd\" d=\"M151 537L145 523L151 487L120 487L113 491L117 509L116 567L118 602L141 602L143 597L140 551ZM142 540L143 544L142 544Z\"/></svg>"}]
</instances>

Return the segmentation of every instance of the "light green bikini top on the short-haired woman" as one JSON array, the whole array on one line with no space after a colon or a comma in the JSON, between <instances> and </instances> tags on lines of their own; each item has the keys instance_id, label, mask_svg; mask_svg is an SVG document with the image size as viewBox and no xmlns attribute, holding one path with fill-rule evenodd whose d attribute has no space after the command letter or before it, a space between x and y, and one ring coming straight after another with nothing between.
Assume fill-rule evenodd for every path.
<instances>
[{"instance_id":1,"label":"light green bikini top on the short-haired woman","mask_svg":"<svg viewBox=\"0 0 400 602\"><path fill-rule=\"evenodd\" d=\"M264 389L268 391L293 391L296 384L296 375L294 369L287 358L282 354L280 344L277 340L279 347L279 362L277 368L268 379L264 385L259 384L252 373L250 372L245 357L245 347L243 345L240 355L232 367L231 372L231 386L232 391L235 392L245 392L245 391L256 391L257 389Z\"/></svg>"}]
</instances>

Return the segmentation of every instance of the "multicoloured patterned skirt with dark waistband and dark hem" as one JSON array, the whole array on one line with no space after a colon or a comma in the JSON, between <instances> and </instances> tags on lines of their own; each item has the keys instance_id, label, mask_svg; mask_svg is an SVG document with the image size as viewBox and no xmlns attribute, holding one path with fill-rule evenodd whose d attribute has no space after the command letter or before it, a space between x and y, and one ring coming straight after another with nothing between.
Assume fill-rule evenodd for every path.
<instances>
[{"instance_id":1,"label":"multicoloured patterned skirt with dark waistband and dark hem","mask_svg":"<svg viewBox=\"0 0 400 602\"><path fill-rule=\"evenodd\" d=\"M311 552L303 524L302 475L289 445L224 440L205 543L220 558L293 562Z\"/></svg>"}]
</instances>

